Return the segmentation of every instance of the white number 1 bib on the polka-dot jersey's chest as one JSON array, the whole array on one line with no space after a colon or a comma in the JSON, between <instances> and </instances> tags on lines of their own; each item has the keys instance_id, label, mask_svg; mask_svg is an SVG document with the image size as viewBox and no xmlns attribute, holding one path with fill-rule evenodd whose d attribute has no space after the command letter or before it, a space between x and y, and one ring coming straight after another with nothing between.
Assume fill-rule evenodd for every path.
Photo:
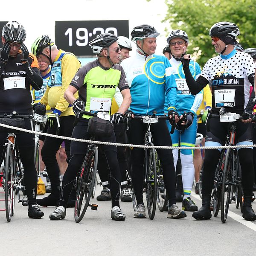
<instances>
[{"instance_id":1,"label":"white number 1 bib on the polka-dot jersey's chest","mask_svg":"<svg viewBox=\"0 0 256 256\"><path fill-rule=\"evenodd\" d=\"M215 107L234 107L235 106L235 89L214 90Z\"/></svg>"}]
</instances>

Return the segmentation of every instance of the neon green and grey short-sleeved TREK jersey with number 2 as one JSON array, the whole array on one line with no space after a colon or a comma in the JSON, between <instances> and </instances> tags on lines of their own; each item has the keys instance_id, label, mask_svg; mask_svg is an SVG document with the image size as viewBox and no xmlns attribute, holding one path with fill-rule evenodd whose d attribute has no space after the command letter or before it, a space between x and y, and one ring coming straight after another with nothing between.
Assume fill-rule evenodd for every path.
<instances>
[{"instance_id":1,"label":"neon green and grey short-sleeved TREK jersey with number 2","mask_svg":"<svg viewBox=\"0 0 256 256\"><path fill-rule=\"evenodd\" d=\"M98 59L84 65L70 85L79 90L79 99L85 102L85 111L91 113L109 112L116 87L119 87L120 91L129 88L125 73L119 64L106 68ZM89 119L91 116L83 117Z\"/></svg>"}]
</instances>

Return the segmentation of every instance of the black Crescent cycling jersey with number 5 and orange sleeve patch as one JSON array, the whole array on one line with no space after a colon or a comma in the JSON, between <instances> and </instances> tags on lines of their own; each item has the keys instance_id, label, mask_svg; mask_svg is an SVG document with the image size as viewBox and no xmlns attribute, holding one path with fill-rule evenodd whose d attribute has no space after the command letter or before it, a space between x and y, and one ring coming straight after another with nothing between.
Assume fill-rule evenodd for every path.
<instances>
[{"instance_id":1,"label":"black Crescent cycling jersey with number 5 and orange sleeve patch","mask_svg":"<svg viewBox=\"0 0 256 256\"><path fill-rule=\"evenodd\" d=\"M32 113L31 83L27 78L24 66L21 64L20 56L21 52L14 57L9 56L6 67L2 72L0 79L0 113L12 113L12 111L24 114ZM29 54L28 63L34 72L40 76L35 55Z\"/></svg>"}]
</instances>

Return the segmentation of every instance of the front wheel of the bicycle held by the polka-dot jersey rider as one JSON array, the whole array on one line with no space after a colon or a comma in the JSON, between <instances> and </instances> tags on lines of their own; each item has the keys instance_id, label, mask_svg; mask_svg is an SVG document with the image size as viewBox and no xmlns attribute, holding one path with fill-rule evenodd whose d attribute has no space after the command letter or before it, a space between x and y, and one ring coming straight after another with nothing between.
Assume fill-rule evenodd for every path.
<instances>
[{"instance_id":1,"label":"front wheel of the bicycle held by the polka-dot jersey rider","mask_svg":"<svg viewBox=\"0 0 256 256\"><path fill-rule=\"evenodd\" d=\"M222 175L221 188L221 221L225 223L230 204L230 192L232 187L232 172L233 172L233 151L227 149L226 160Z\"/></svg>"}]
</instances>

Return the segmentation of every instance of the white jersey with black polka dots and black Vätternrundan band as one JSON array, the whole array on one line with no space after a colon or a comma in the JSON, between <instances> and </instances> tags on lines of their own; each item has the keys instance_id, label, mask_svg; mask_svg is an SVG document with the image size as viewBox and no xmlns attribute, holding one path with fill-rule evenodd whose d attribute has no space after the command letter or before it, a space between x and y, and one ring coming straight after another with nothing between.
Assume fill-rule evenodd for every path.
<instances>
[{"instance_id":1,"label":"white jersey with black polka dots and black V\u00e4tternrundan band","mask_svg":"<svg viewBox=\"0 0 256 256\"><path fill-rule=\"evenodd\" d=\"M234 49L228 55L218 55L207 61L197 79L195 91L211 81L212 113L218 113L221 107L226 108L227 112L242 113L248 107L250 84L254 85L254 73L253 58ZM192 81L189 76L187 79ZM255 105L252 101L253 97L249 102L251 109Z\"/></svg>"}]
</instances>

